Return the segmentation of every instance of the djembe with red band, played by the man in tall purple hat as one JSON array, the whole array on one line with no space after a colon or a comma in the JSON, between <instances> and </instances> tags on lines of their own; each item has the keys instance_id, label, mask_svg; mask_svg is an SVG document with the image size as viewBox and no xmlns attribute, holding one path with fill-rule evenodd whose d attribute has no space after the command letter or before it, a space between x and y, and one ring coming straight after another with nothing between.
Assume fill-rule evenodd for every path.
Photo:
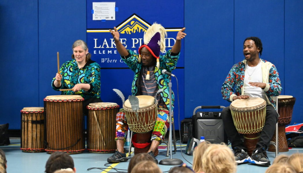
<instances>
[{"instance_id":1,"label":"djembe with red band, played by the man in tall purple hat","mask_svg":"<svg viewBox=\"0 0 303 173\"><path fill-rule=\"evenodd\" d=\"M124 102L123 108L128 127L136 134L132 137L135 146L135 154L146 153L151 146L151 132L155 126L158 115L158 103L155 98L148 95L136 96L139 100L139 110L135 112L129 100ZM158 148L154 151L154 155L159 153Z\"/></svg>"}]
</instances>

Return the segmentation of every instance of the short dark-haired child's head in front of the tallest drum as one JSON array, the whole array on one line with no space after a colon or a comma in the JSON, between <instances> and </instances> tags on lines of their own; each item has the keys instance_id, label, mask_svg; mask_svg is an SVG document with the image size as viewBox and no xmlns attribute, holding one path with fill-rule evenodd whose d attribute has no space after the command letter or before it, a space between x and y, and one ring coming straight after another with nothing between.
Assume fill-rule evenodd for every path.
<instances>
[{"instance_id":1,"label":"short dark-haired child's head in front of the tallest drum","mask_svg":"<svg viewBox=\"0 0 303 173\"><path fill-rule=\"evenodd\" d=\"M52 153L46 161L45 172L54 173L57 170L67 168L71 168L76 172L73 158L65 152L55 152Z\"/></svg>"}]
</instances>

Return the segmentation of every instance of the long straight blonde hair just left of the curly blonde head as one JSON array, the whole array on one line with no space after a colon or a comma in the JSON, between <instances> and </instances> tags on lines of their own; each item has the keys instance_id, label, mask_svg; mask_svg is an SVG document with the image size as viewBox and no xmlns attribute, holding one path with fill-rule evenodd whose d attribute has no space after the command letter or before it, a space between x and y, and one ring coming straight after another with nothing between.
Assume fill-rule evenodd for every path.
<instances>
[{"instance_id":1,"label":"long straight blonde hair just left of the curly blonde head","mask_svg":"<svg viewBox=\"0 0 303 173\"><path fill-rule=\"evenodd\" d=\"M210 142L205 141L201 142L194 150L194 158L193 158L193 164L192 169L195 172L201 172L202 171L202 157L205 152L205 150L211 145Z\"/></svg>"}]
</instances>

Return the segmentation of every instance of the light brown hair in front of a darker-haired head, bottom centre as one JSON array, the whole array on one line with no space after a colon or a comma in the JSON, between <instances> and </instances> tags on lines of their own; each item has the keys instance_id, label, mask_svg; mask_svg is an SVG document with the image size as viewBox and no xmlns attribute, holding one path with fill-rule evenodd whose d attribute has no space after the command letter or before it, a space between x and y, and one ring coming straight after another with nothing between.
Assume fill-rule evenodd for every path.
<instances>
[{"instance_id":1,"label":"light brown hair in front of a darker-haired head, bottom centre","mask_svg":"<svg viewBox=\"0 0 303 173\"><path fill-rule=\"evenodd\" d=\"M140 161L134 166L131 173L162 173L159 166L154 161Z\"/></svg>"}]
</instances>

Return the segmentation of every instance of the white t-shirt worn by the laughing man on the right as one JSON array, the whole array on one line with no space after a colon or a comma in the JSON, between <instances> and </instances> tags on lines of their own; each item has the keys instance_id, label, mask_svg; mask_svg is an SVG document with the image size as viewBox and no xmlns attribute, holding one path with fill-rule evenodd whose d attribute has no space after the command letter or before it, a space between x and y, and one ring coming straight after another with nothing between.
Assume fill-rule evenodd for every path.
<instances>
[{"instance_id":1,"label":"white t-shirt worn by the laughing man on the right","mask_svg":"<svg viewBox=\"0 0 303 173\"><path fill-rule=\"evenodd\" d=\"M244 77L244 95L249 95L249 97L260 97L266 100L265 92L260 87L255 87L248 84L248 82L262 81L261 63L255 67L250 67L246 64Z\"/></svg>"}]
</instances>

